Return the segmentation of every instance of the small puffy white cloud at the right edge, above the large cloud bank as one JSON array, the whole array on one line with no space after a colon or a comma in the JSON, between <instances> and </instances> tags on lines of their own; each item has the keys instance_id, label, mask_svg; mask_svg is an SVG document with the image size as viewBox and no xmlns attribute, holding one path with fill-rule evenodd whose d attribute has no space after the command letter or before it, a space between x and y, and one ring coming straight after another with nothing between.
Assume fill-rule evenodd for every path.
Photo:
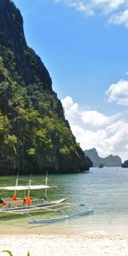
<instances>
[{"instance_id":1,"label":"small puffy white cloud at the right edge, above the large cloud bank","mask_svg":"<svg viewBox=\"0 0 128 256\"><path fill-rule=\"evenodd\" d=\"M128 80L119 80L117 84L111 84L106 94L109 102L128 106Z\"/></svg>"}]
</instances>

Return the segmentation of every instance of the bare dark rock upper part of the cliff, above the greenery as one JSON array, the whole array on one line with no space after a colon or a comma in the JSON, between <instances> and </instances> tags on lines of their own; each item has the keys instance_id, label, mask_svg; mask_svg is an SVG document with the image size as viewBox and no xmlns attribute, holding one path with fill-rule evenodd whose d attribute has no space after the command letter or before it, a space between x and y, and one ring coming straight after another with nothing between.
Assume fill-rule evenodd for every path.
<instances>
[{"instance_id":1,"label":"bare dark rock upper part of the cliff, above the greenery","mask_svg":"<svg viewBox=\"0 0 128 256\"><path fill-rule=\"evenodd\" d=\"M52 90L47 69L38 55L27 47L20 10L16 9L15 4L9 0L0 0L0 39L3 44L6 46L8 44L9 48L13 50L15 68L20 74L22 82L32 84L36 82L35 76L37 75L40 81L47 84L45 89ZM31 60L32 57L33 60Z\"/></svg>"}]
</instances>

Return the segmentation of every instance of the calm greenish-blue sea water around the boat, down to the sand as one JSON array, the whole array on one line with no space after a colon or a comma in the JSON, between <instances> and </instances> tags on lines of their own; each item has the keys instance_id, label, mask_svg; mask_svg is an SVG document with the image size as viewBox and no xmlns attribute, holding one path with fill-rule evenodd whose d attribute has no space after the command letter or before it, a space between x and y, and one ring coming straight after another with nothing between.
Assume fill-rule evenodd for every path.
<instances>
[{"instance_id":1,"label":"calm greenish-blue sea water around the boat, down to the sand","mask_svg":"<svg viewBox=\"0 0 128 256\"><path fill-rule=\"evenodd\" d=\"M36 178L38 182L43 177L33 178ZM1 183L5 182L5 179L7 177L1 177ZM0 224L4 224L5 230L9 227L11 232L13 230L16 232L18 229L19 232L26 230L28 233L39 234L42 232L84 234L87 231L94 232L94 230L96 232L107 232L108 230L127 231L128 169L91 168L90 172L87 173L51 175L49 179L51 183L57 184L57 189L54 192L53 190L49 191L49 197L56 199L68 196L69 202L84 203L95 212L65 223L36 226L27 224L28 218L4 218L0 220ZM44 217L47 218L47 214ZM54 217L53 213L52 217Z\"/></svg>"}]
</instances>

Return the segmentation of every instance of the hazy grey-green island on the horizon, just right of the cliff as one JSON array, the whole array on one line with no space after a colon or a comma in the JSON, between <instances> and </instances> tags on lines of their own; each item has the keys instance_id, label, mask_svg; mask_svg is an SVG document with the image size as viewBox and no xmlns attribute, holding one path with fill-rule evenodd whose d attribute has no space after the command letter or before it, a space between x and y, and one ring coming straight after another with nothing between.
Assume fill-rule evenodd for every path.
<instances>
[{"instance_id":1,"label":"hazy grey-green island on the horizon, just right of the cliff","mask_svg":"<svg viewBox=\"0 0 128 256\"><path fill-rule=\"evenodd\" d=\"M122 160L118 155L110 154L108 157L102 158L98 155L96 148L84 150L84 154L90 158L94 167L122 166Z\"/></svg>"}]
</instances>

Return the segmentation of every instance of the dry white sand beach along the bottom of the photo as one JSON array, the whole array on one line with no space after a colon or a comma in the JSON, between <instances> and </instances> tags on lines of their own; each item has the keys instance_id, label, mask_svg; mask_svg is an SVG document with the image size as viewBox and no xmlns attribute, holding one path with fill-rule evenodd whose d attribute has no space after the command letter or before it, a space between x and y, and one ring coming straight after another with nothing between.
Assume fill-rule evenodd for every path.
<instances>
[{"instance_id":1,"label":"dry white sand beach along the bottom of the photo","mask_svg":"<svg viewBox=\"0 0 128 256\"><path fill-rule=\"evenodd\" d=\"M127 256L128 235L87 234L86 236L1 236L0 249L11 250L13 256ZM9 255L2 253L2 255Z\"/></svg>"}]
</instances>

